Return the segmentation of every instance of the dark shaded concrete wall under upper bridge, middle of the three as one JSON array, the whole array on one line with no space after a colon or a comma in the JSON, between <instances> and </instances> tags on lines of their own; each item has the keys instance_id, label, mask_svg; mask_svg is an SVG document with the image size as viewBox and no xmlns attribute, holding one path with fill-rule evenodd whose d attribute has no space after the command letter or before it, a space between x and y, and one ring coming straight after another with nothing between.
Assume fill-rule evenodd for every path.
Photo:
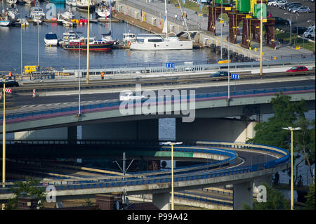
<instances>
[{"instance_id":1,"label":"dark shaded concrete wall under upper bridge, middle of the three","mask_svg":"<svg viewBox=\"0 0 316 224\"><path fill-rule=\"evenodd\" d=\"M158 140L158 119L82 126L82 140Z\"/></svg>"}]
</instances>

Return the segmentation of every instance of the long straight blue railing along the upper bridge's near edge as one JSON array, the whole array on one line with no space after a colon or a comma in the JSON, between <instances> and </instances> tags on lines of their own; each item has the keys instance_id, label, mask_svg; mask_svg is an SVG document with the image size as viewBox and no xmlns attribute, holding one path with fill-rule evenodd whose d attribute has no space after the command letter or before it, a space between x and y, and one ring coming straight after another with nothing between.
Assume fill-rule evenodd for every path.
<instances>
[{"instance_id":1,"label":"long straight blue railing along the upper bridge's near edge","mask_svg":"<svg viewBox=\"0 0 316 224\"><path fill-rule=\"evenodd\" d=\"M246 97L247 95L255 96L255 95L267 95L271 93L287 93L287 92L300 92L300 91L315 91L315 85L313 86L300 86L300 87L288 87L288 88L264 88L264 89L258 89L258 90L249 90L249 91L232 91L230 93L231 98L237 98L237 97ZM203 94L197 94L195 95L195 99L202 101L203 99L209 100L210 98L213 98L214 100L225 98L228 96L227 92L222 93L203 93ZM187 100L190 100L190 95L185 96ZM181 96L178 97L178 100L183 100ZM166 99L167 100L167 99ZM155 98L154 102L159 103L162 101L166 101L165 98ZM171 99L168 99L169 101L166 101L165 103L172 103L174 101L174 95ZM152 100L147 100L147 103L152 103ZM173 102L174 103L174 102ZM115 108L118 108L121 104L121 101L117 102L111 102L111 103L98 103L95 105L82 105L81 106L81 112L93 112L96 110L106 110L108 108L109 110L114 110ZM27 119L27 117L53 117L55 115L66 115L66 114L77 114L79 110L78 106L72 106L72 107L61 107L58 109L53 110L40 110L37 112L22 112L22 113L15 113L15 114L6 114L6 122L7 124L22 121ZM3 121L3 115L0 117L0 123L2 124Z\"/></svg>"}]
</instances>

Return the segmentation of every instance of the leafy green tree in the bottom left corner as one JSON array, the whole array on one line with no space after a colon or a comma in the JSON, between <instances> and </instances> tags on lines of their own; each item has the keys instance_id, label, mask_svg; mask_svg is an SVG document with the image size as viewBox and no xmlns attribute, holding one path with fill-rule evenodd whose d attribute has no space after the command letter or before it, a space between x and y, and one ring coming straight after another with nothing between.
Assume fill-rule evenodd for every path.
<instances>
[{"instance_id":1,"label":"leafy green tree in the bottom left corner","mask_svg":"<svg viewBox=\"0 0 316 224\"><path fill-rule=\"evenodd\" d=\"M26 178L25 181L19 180L16 186L10 187L9 191L13 192L15 197L9 199L6 204L7 210L17 209L18 197L21 193L25 193L27 197L36 197L39 200L39 206L44 204L46 192L42 187L39 187L40 180Z\"/></svg>"}]
</instances>

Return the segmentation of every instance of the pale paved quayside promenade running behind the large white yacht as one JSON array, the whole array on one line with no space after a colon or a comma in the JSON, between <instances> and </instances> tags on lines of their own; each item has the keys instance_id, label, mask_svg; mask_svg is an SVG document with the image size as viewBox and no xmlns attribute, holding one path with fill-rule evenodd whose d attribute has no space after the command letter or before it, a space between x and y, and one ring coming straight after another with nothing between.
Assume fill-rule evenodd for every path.
<instances>
[{"instance_id":1,"label":"pale paved quayside promenade running behind the large white yacht","mask_svg":"<svg viewBox=\"0 0 316 224\"><path fill-rule=\"evenodd\" d=\"M129 2L132 2L133 4L138 4L139 6L143 6L145 8L149 8L152 11L157 11L160 15L160 18L164 18L164 13L165 13L164 0L129 0ZM187 22L188 27L191 27L191 28L196 27L201 32L207 31L209 18L206 15L202 15L202 16L198 15L198 12L199 12L198 6L197 6L197 11L193 11L189 8L182 8L182 11L185 12L185 14L187 15L186 22ZM169 18L172 18L171 22L175 22L175 23L178 23L179 25L183 25L183 16L181 13L181 9L177 8L175 4L167 4L167 15ZM175 15L177 16L175 17ZM258 57L260 56L259 43L256 43L253 41L251 43L251 50L249 50L249 49L242 48L241 46L239 46L239 43L242 41L242 36L237 37L237 44L231 44L231 43L228 43L228 41L226 41L228 37L228 22L224 23L224 27L220 27L219 21L216 23L215 38L218 39L219 43L220 43L220 37L223 37L223 43L225 43L225 46L229 44L232 48L239 48L242 52L249 51L251 55L258 56ZM285 55L298 55L298 54L312 55L312 51L309 51L304 48L295 49L290 46L281 46L280 48L275 50L268 46L263 46L263 55L268 56L268 57L278 57L281 55L285 56Z\"/></svg>"}]
</instances>

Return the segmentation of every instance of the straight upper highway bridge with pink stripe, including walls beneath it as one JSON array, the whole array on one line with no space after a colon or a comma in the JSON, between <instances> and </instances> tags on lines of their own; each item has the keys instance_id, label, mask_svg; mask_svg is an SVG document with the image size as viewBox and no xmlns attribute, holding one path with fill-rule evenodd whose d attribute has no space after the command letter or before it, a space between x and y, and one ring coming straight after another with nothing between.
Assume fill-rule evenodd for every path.
<instances>
[{"instance_id":1,"label":"straight upper highway bridge with pink stripe, including walls beneath it","mask_svg":"<svg viewBox=\"0 0 316 224\"><path fill-rule=\"evenodd\" d=\"M247 138L253 138L256 124L246 118L273 113L270 100L276 93L290 95L292 101L303 99L308 110L315 110L315 74L246 79L238 81L236 86L232 81L230 98L226 81L146 86L140 93L144 93L143 90L154 90L151 93L156 98L148 95L145 100L123 104L118 100L118 89L114 93L106 92L109 90L83 93L80 114L78 95L67 95L67 91L62 95L47 93L50 96L31 99L29 95L13 95L8 98L14 108L6 111L6 131L15 132L15 139L68 139L75 142L77 126L82 126L83 140L158 140L158 119L175 117L177 140L245 142ZM171 96L166 96L168 94ZM2 119L0 117L0 123Z\"/></svg>"}]
</instances>

